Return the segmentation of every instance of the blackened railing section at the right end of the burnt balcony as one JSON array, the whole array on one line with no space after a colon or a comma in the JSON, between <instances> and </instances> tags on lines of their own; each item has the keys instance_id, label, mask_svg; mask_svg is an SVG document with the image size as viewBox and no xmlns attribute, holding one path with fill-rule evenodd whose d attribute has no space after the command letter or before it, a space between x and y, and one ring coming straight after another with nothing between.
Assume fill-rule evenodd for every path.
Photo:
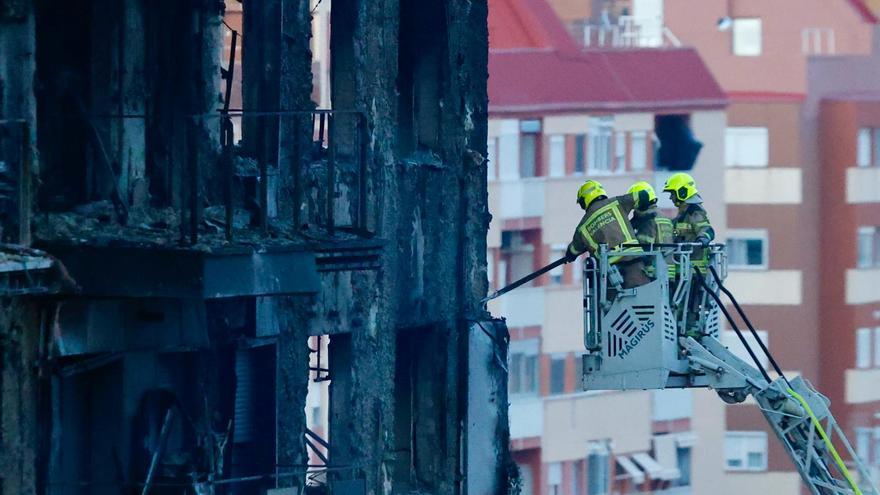
<instances>
[{"instance_id":1,"label":"blackened railing section at the right end of the burnt balcony","mask_svg":"<svg viewBox=\"0 0 880 495\"><path fill-rule=\"evenodd\" d=\"M368 235L368 141L366 116L361 112L339 110L303 111L222 111L220 114L192 116L188 136L207 121L216 119L220 126L220 163L222 170L225 237L234 239L236 176L253 177L256 189L257 227L269 232L270 213L289 211L290 218L281 219L292 230L303 225L318 225L331 236L336 231ZM236 122L239 124L236 126ZM248 136L248 131L253 135ZM244 132L242 145L236 135ZM189 139L189 137L188 137ZM203 202L201 163L190 154L189 212L187 232L190 242L198 241L199 205ZM254 170L241 170L236 160L255 163ZM247 166L244 167L247 169ZM283 174L289 176L282 176ZM283 184L278 184L282 182ZM289 186L290 204L279 208L271 193ZM349 201L340 201L341 189ZM274 191L273 191L274 189ZM342 204L340 204L342 203ZM347 214L340 206L348 206Z\"/></svg>"}]
</instances>

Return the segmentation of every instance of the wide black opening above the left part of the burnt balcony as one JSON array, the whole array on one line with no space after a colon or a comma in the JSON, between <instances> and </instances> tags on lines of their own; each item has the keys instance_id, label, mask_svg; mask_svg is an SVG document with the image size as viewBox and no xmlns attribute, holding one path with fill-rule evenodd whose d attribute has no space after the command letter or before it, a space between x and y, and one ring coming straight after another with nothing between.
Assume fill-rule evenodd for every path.
<instances>
[{"instance_id":1,"label":"wide black opening above the left part of the burnt balcony","mask_svg":"<svg viewBox=\"0 0 880 495\"><path fill-rule=\"evenodd\" d=\"M203 113L215 104L205 95L217 94L193 83L198 11L172 0L149 8L108 0L35 5L39 209L179 206L173 196L187 159L181 115ZM215 139L199 136L200 148Z\"/></svg>"}]
</instances>

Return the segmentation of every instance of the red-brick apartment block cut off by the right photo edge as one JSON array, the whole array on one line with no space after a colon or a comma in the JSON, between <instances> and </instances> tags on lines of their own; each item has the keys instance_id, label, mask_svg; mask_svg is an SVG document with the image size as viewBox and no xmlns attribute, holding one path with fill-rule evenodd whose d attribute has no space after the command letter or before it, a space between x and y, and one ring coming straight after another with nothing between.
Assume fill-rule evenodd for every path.
<instances>
[{"instance_id":1,"label":"red-brick apartment block cut off by the right photo edge","mask_svg":"<svg viewBox=\"0 0 880 495\"><path fill-rule=\"evenodd\" d=\"M856 451L880 475L880 37L870 56L808 64L804 132L821 170L823 383ZM826 331L831 330L831 331Z\"/></svg>"}]
</instances>

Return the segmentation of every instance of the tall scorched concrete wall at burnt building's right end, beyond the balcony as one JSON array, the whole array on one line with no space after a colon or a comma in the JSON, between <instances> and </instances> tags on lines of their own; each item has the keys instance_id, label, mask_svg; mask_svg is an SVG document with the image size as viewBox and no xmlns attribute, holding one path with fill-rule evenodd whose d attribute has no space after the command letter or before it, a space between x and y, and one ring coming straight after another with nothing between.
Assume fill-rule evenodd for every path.
<instances>
[{"instance_id":1,"label":"tall scorched concrete wall at burnt building's right end, beyond the balcony","mask_svg":"<svg viewBox=\"0 0 880 495\"><path fill-rule=\"evenodd\" d=\"M333 105L368 116L370 225L387 245L374 276L327 280L334 312L317 326L349 332L331 337L331 458L362 466L369 493L467 491L467 320L486 317L486 8L333 5Z\"/></svg>"}]
</instances>

